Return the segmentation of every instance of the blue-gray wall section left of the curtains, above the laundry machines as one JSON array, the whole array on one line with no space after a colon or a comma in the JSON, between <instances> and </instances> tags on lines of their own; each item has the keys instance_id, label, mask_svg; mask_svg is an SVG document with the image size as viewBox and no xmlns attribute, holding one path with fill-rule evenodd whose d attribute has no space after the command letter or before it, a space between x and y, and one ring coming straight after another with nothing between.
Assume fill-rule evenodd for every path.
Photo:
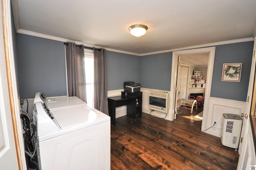
<instances>
[{"instance_id":1,"label":"blue-gray wall section left of the curtains, above the laundry machines","mask_svg":"<svg viewBox=\"0 0 256 170\"><path fill-rule=\"evenodd\" d=\"M63 42L17 34L16 46L21 99L34 98L36 92L67 95Z\"/></svg>"}]
</instances>

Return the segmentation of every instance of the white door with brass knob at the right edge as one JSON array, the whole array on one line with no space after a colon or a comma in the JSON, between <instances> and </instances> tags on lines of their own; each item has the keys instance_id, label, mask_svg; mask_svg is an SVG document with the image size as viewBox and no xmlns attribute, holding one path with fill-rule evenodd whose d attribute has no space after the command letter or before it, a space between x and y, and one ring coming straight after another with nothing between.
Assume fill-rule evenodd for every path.
<instances>
[{"instance_id":1,"label":"white door with brass knob at the right edge","mask_svg":"<svg viewBox=\"0 0 256 170\"><path fill-rule=\"evenodd\" d=\"M252 57L252 67L250 73L250 81L248 87L248 100L246 102L245 113L247 114L247 118L244 117L243 119L243 126L241 132L241 139L239 144L238 152L240 154L238 160L237 170L250 170L250 165L256 165L256 158L255 158L255 149L254 149L254 142L252 137L252 129L250 124L250 113L255 112L256 106L256 80L254 81L255 77L255 47L256 46L256 38L254 38L254 56ZM253 94L254 92L254 94ZM251 109L252 108L252 109Z\"/></svg>"}]
</instances>

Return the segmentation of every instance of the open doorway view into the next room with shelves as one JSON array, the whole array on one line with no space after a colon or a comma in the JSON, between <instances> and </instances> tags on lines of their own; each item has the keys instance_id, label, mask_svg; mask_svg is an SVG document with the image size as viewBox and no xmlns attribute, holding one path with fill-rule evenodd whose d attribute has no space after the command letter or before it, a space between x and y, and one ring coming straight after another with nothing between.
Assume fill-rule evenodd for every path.
<instances>
[{"instance_id":1,"label":"open doorway view into the next room with shelves","mask_svg":"<svg viewBox=\"0 0 256 170\"><path fill-rule=\"evenodd\" d=\"M178 56L176 107L185 108L185 110L177 109L177 114L186 112L188 112L188 114L192 114L193 112L194 115L194 112L196 112L198 114L194 116L197 120L202 121L208 63L209 52ZM186 72L184 72L184 68L186 68ZM194 107L186 105L180 106L179 104L181 99L183 99L182 101L196 100L197 105L194 105ZM190 102L192 103L192 101ZM176 119L176 115L174 115L174 119Z\"/></svg>"}]
</instances>

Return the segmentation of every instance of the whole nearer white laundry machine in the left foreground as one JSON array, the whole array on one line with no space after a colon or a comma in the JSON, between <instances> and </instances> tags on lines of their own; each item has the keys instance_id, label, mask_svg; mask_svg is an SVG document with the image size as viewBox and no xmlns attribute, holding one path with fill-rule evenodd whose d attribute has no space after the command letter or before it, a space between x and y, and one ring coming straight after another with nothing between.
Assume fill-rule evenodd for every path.
<instances>
[{"instance_id":1,"label":"whole nearer white laundry machine in the left foreground","mask_svg":"<svg viewBox=\"0 0 256 170\"><path fill-rule=\"evenodd\" d=\"M86 105L33 110L41 170L110 170L110 117Z\"/></svg>"}]
</instances>

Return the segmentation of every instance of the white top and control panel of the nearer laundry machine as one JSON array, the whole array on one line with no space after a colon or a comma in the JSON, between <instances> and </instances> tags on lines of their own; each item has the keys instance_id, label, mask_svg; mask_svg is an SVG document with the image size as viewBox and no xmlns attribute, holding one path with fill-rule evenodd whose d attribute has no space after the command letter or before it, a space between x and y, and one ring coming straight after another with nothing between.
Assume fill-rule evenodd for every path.
<instances>
[{"instance_id":1,"label":"white top and control panel of the nearer laundry machine","mask_svg":"<svg viewBox=\"0 0 256 170\"><path fill-rule=\"evenodd\" d=\"M110 116L87 105L51 110L54 118L51 119L43 109L41 102L38 103L42 108L42 110L37 110L39 142L105 122L109 122L110 125ZM55 129L50 125L54 125Z\"/></svg>"}]
</instances>

